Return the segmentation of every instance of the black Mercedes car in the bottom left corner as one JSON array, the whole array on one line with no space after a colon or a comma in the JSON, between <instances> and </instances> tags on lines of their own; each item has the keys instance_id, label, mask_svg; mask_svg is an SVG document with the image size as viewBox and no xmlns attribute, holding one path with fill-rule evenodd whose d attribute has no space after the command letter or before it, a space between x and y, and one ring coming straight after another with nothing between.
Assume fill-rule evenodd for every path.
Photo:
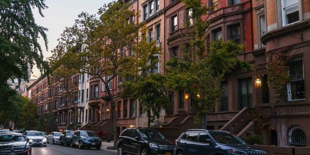
<instances>
[{"instance_id":1,"label":"black Mercedes car in the bottom left corner","mask_svg":"<svg viewBox=\"0 0 310 155\"><path fill-rule=\"evenodd\" d=\"M31 155L31 145L21 133L1 132L0 155Z\"/></svg>"}]
</instances>

